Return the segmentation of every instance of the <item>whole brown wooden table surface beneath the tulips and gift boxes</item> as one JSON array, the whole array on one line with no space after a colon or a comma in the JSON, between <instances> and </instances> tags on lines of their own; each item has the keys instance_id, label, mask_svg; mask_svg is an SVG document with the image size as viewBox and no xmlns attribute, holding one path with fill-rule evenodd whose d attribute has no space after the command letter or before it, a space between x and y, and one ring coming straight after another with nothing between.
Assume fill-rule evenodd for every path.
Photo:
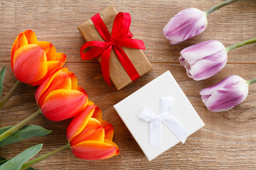
<instances>
[{"instance_id":1,"label":"whole brown wooden table surface beneath the tulips and gift boxes","mask_svg":"<svg viewBox=\"0 0 256 170\"><path fill-rule=\"evenodd\" d=\"M218 83L231 74L244 79L256 77L256 45L240 47L228 53L228 64L210 79L194 81L179 64L179 52L190 45L206 40L220 40L225 47L236 42L255 38L256 1L238 1L208 16L208 26L201 35L178 45L170 45L162 30L171 17L184 8L196 7L206 11L221 1L1 1L0 16L0 68L7 66L3 96L16 81L11 72L11 46L23 30L33 30L38 40L55 45L64 52L69 67L82 86L103 111L103 118L114 126L114 142L120 154L111 159L85 161L73 156L70 150L56 154L36 164L38 169L256 169L256 84L250 86L246 100L230 111L213 113L206 109L199 91ZM134 37L144 40L145 54L154 69L143 77L117 91L105 83L97 60L80 58L80 47L85 43L77 26L95 13L114 4L117 11L132 16L130 30ZM178 144L149 162L129 130L114 111L114 104L140 87L170 70L189 101L206 124L188 137L184 145ZM15 125L38 110L34 95L36 87L22 84L0 112L0 127ZM1 98L3 98L3 96ZM129 108L127 108L129 109ZM10 159L33 145L43 143L38 155L66 144L65 130L70 120L53 122L43 115L31 122L53 130L46 137L34 137L6 147L1 147L0 157Z\"/></svg>"}]
</instances>

